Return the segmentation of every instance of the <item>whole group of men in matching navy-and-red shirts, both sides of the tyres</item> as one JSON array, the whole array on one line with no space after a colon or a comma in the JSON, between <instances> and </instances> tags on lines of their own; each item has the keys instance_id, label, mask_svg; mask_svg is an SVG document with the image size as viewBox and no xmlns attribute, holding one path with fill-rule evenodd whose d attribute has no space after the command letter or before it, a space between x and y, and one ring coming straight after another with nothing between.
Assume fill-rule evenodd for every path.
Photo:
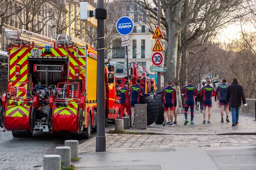
<instances>
[{"instance_id":1,"label":"whole group of men in matching navy-and-red shirts, both sides of the tyres","mask_svg":"<svg viewBox=\"0 0 256 170\"><path fill-rule=\"evenodd\" d=\"M134 119L134 105L140 104L140 96L149 96L150 94L145 94L143 88L140 86L140 79L137 79L137 84L132 85L130 88L131 93L131 114ZM190 125L194 125L193 119L194 119L194 108L196 104L196 108L198 110L198 101L195 103L195 97L199 98L201 96L202 99L202 108L201 112L203 112L203 124L210 124L210 118L211 118L211 109L212 109L212 97L215 97L215 102L217 102L217 95L219 93L219 105L221 105L221 123L224 123L224 107L226 108L226 121L230 122L228 119L229 115L229 103L226 100L226 91L228 85L226 85L227 80L223 79L222 84L218 86L216 92L213 87L210 86L211 81L207 80L206 85L201 89L201 91L198 91L198 88L194 85L192 85L192 80L188 80L188 85L186 85L182 90L182 96L185 97L185 103L184 103L184 116L185 121L184 125L187 125L189 123L188 120L188 110L190 108L191 112L191 121ZM120 88L120 86L116 86L116 93L117 96L119 96L121 99L116 100L116 103L120 104L120 118L122 116L129 115L129 95L128 95L128 81L125 81L125 86L123 88ZM163 100L163 107L164 107L164 122L163 126L170 125L175 126L177 125L177 92L176 88L173 86L172 80L169 80L167 82L167 86L163 88L162 91L154 93L161 94L162 100ZM208 120L206 122L206 108L208 108ZM173 118L175 117L175 120Z\"/></svg>"}]
</instances>

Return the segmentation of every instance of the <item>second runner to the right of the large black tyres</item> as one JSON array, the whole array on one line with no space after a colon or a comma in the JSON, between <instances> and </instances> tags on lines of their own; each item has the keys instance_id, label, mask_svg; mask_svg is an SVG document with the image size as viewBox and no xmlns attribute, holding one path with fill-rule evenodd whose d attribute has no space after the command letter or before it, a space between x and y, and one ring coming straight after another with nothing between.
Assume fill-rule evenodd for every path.
<instances>
[{"instance_id":1,"label":"second runner to the right of the large black tyres","mask_svg":"<svg viewBox=\"0 0 256 170\"><path fill-rule=\"evenodd\" d=\"M197 88L194 85L192 85L192 80L188 80L188 85L183 88L181 95L185 97L184 125L187 125L187 123L189 122L188 121L189 107L191 112L190 125L194 125L193 119L194 119L195 96L197 96Z\"/></svg>"}]
</instances>

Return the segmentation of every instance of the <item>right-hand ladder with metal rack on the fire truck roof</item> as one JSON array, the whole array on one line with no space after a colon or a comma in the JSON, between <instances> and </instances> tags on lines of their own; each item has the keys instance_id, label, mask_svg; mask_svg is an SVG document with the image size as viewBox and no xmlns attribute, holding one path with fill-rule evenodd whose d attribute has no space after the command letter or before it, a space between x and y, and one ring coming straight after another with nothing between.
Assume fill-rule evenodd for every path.
<instances>
[{"instance_id":1,"label":"right-hand ladder with metal rack on the fire truck roof","mask_svg":"<svg viewBox=\"0 0 256 170\"><path fill-rule=\"evenodd\" d=\"M79 38L77 37L73 37L73 36L67 36L66 35L61 35L61 34L58 34L58 37L57 37L57 41L56 41L56 48L57 48L57 44L64 44L64 45L67 45L68 47L70 47L70 45L73 45L73 44L76 44L77 46L86 46L86 42L83 41L83 40L80 40Z\"/></svg>"}]
</instances>

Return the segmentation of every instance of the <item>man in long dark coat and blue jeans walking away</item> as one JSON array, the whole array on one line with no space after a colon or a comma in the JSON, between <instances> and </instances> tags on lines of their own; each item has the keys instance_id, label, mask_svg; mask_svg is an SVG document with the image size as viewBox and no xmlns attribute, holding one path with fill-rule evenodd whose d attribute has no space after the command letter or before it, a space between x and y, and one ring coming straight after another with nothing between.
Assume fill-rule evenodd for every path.
<instances>
[{"instance_id":1,"label":"man in long dark coat and blue jeans walking away","mask_svg":"<svg viewBox=\"0 0 256 170\"><path fill-rule=\"evenodd\" d=\"M230 108L232 113L232 126L238 125L238 118L239 118L239 108L241 106L241 100L243 104L247 106L245 96L244 96L244 89L241 85L238 84L237 78L233 78L233 82L227 88L226 94L227 102L230 102Z\"/></svg>"}]
</instances>

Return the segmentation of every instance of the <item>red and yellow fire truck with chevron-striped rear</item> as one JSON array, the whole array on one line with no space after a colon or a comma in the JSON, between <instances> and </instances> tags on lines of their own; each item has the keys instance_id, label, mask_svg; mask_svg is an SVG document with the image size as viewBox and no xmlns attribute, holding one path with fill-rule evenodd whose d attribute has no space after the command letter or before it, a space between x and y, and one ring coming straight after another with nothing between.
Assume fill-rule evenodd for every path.
<instances>
[{"instance_id":1,"label":"red and yellow fire truck with chevron-striped rear","mask_svg":"<svg viewBox=\"0 0 256 170\"><path fill-rule=\"evenodd\" d=\"M9 47L9 87L3 94L0 126L14 137L33 131L71 132L88 139L96 128L97 52L67 35L56 40L27 30L4 31ZM117 118L113 66L105 68L106 122ZM101 107L101 106L100 106Z\"/></svg>"}]
</instances>

